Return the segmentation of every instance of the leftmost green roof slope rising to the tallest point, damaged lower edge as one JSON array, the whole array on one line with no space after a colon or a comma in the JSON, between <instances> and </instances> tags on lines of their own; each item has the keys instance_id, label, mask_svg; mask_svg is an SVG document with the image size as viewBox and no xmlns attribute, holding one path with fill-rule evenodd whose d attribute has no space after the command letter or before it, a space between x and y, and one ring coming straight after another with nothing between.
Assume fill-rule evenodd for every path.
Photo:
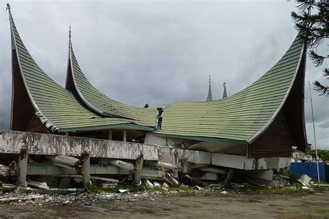
<instances>
[{"instance_id":1,"label":"leftmost green roof slope rising to the tallest point, damaged lower edge","mask_svg":"<svg viewBox=\"0 0 329 219\"><path fill-rule=\"evenodd\" d=\"M12 33L12 52L15 52L17 55L25 89L28 92L36 114L47 128L53 131L57 130L58 132L96 130L122 126L141 130L153 130L153 128L140 126L140 124L135 123L131 119L101 116L89 109L78 95L58 85L42 71L30 53L28 53L21 37L19 37L10 8L9 18Z\"/></svg>"}]
</instances>

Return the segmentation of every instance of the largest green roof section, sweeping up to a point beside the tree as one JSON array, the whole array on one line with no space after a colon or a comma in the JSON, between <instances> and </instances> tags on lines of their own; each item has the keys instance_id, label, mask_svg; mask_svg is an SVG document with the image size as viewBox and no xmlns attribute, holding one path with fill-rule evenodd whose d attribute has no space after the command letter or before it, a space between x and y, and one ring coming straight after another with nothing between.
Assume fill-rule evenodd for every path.
<instances>
[{"instance_id":1,"label":"largest green roof section, sweeping up to a point beside the tree","mask_svg":"<svg viewBox=\"0 0 329 219\"><path fill-rule=\"evenodd\" d=\"M303 48L303 41L297 36L264 76L233 96L211 102L165 105L161 130L156 133L251 143L285 103L298 73Z\"/></svg>"}]
</instances>

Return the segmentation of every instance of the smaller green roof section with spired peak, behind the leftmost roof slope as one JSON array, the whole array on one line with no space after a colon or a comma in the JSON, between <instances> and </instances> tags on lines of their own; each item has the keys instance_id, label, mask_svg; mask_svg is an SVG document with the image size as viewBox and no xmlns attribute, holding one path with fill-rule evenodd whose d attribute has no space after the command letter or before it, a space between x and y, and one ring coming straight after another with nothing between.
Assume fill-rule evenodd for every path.
<instances>
[{"instance_id":1,"label":"smaller green roof section with spired peak, behind the leftmost roof slope","mask_svg":"<svg viewBox=\"0 0 329 219\"><path fill-rule=\"evenodd\" d=\"M132 119L136 124L155 127L157 116L156 109L133 107L112 100L96 89L85 77L74 55L71 41L69 43L69 59L71 60L71 73L74 87L83 103L103 116L116 116L124 119Z\"/></svg>"}]
</instances>

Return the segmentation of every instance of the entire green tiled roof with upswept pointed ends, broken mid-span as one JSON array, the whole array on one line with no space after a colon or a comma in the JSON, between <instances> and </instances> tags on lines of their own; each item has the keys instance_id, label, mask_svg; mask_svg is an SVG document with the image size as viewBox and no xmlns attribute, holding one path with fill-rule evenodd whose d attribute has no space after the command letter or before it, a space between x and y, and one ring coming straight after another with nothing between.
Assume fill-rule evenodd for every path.
<instances>
[{"instance_id":1,"label":"entire green tiled roof with upswept pointed ends, broken mid-span","mask_svg":"<svg viewBox=\"0 0 329 219\"><path fill-rule=\"evenodd\" d=\"M250 143L282 108L304 54L303 42L296 37L287 53L251 86L222 100L165 105L158 119L160 129L155 130L157 110L124 105L98 91L81 71L71 43L69 63L78 94L64 89L40 69L11 15L10 26L13 49L36 114L47 128L59 132L138 128L185 139Z\"/></svg>"}]
</instances>

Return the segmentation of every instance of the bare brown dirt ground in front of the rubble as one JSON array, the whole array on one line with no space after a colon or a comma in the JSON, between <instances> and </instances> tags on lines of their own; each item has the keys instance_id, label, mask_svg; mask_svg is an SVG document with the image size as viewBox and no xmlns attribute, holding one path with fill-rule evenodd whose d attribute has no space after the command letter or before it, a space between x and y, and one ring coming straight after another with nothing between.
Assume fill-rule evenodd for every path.
<instances>
[{"instance_id":1,"label":"bare brown dirt ground in front of the rubble","mask_svg":"<svg viewBox=\"0 0 329 219\"><path fill-rule=\"evenodd\" d=\"M329 191L312 194L165 195L108 206L0 205L0 218L329 218Z\"/></svg>"}]
</instances>

